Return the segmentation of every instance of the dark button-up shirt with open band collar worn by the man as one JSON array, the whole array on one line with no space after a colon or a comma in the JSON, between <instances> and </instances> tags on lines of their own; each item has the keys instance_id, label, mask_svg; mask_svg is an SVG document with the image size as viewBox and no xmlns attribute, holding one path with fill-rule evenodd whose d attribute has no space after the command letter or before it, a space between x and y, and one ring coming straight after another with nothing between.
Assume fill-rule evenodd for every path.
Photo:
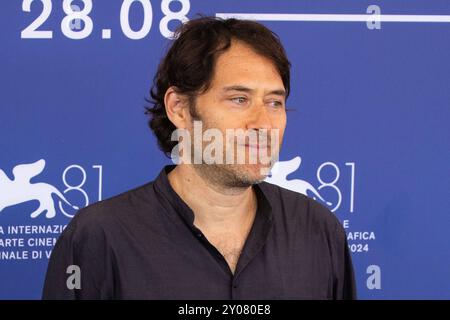
<instances>
[{"instance_id":1,"label":"dark button-up shirt with open band collar worn by the man","mask_svg":"<svg viewBox=\"0 0 450 320\"><path fill-rule=\"evenodd\" d=\"M255 185L257 212L233 274L169 184L173 168L81 209L53 249L43 298L356 297L345 232L324 206L266 182ZM80 289L67 286L75 274L70 265L80 268Z\"/></svg>"}]
</instances>

